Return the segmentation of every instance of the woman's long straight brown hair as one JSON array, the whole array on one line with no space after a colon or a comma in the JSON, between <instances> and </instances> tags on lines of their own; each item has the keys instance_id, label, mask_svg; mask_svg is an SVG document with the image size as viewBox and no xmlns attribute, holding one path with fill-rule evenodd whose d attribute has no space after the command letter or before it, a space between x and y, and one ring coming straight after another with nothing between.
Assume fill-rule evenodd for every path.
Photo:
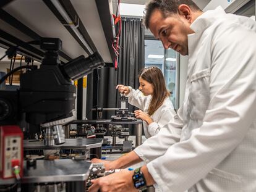
<instances>
[{"instance_id":1,"label":"woman's long straight brown hair","mask_svg":"<svg viewBox=\"0 0 256 192\"><path fill-rule=\"evenodd\" d=\"M158 67L147 67L140 71L139 78L153 85L154 91L147 111L148 115L152 115L170 95L165 86L163 73Z\"/></svg>"}]
</instances>

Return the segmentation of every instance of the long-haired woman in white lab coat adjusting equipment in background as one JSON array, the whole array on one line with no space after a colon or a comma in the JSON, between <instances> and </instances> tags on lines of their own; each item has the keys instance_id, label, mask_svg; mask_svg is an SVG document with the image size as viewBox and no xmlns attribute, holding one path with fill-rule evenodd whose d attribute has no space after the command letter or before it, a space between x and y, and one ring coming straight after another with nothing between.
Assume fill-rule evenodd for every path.
<instances>
[{"instance_id":1,"label":"long-haired woman in white lab coat adjusting equipment in background","mask_svg":"<svg viewBox=\"0 0 256 192\"><path fill-rule=\"evenodd\" d=\"M134 111L137 119L143 120L146 138L156 135L161 127L171 120L176 112L169 99L163 73L158 67L147 67L139 73L139 90L130 86L117 85L122 94L126 94L128 102L139 110Z\"/></svg>"}]
</instances>

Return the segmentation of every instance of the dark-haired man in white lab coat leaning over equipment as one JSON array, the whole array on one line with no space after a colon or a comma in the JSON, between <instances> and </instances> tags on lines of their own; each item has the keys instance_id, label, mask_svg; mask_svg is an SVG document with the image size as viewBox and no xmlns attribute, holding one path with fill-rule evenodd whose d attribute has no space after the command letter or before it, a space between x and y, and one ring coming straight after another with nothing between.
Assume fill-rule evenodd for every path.
<instances>
[{"instance_id":1,"label":"dark-haired man in white lab coat leaning over equipment","mask_svg":"<svg viewBox=\"0 0 256 192\"><path fill-rule=\"evenodd\" d=\"M94 180L90 191L137 191L144 182L175 192L256 191L256 22L221 7L203 13L190 0L153 0L145 26L164 48L189 56L184 103L135 149L132 162L147 165Z\"/></svg>"}]
</instances>

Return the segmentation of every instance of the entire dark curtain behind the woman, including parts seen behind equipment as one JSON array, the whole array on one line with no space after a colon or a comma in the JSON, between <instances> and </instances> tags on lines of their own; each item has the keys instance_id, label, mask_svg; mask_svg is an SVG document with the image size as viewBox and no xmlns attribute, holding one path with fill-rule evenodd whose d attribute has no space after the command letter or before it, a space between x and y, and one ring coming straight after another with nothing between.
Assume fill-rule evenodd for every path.
<instances>
[{"instance_id":1,"label":"entire dark curtain behind the woman, including parts seen behind equipment","mask_svg":"<svg viewBox=\"0 0 256 192\"><path fill-rule=\"evenodd\" d=\"M120 94L117 93L116 85L139 88L138 73L144 67L144 27L141 19L122 17L119 45L121 48L118 69L105 67L98 70L100 74L98 106L103 108L118 107ZM88 75L87 85L87 118L92 119L93 74ZM129 110L134 111L134 107L130 106ZM110 119L111 115L114 115L113 111L103 112L103 119Z\"/></svg>"}]
</instances>

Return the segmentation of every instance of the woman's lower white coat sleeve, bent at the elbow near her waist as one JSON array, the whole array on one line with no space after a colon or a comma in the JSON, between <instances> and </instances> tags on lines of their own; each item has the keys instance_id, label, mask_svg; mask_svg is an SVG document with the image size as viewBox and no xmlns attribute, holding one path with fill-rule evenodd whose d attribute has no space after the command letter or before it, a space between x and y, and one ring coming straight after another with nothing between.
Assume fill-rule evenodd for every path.
<instances>
[{"instance_id":1,"label":"woman's lower white coat sleeve, bent at the elbow near her waist","mask_svg":"<svg viewBox=\"0 0 256 192\"><path fill-rule=\"evenodd\" d=\"M148 125L148 133L150 133L151 136L156 135L164 125L166 125L173 117L176 115L176 112L173 108L163 109L161 111L160 119L158 120L158 123L153 122Z\"/></svg>"}]
</instances>

